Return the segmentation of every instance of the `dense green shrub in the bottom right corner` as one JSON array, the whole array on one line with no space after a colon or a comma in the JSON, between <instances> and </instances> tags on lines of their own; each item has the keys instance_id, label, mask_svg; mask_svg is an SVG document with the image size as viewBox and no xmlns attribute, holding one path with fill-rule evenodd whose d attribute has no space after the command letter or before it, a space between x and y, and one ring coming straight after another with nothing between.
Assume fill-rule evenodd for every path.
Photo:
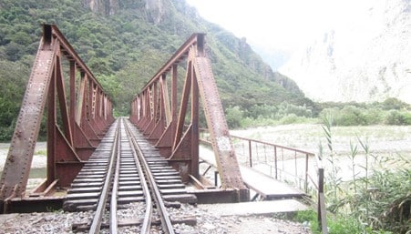
<instances>
[{"instance_id":1,"label":"dense green shrub in the bottom right corner","mask_svg":"<svg viewBox=\"0 0 411 234\"><path fill-rule=\"evenodd\" d=\"M367 191L357 193L351 199L355 216L366 217L364 221L372 229L406 233L411 229L409 181L411 181L410 169L374 170L373 176L367 181Z\"/></svg>"}]
</instances>

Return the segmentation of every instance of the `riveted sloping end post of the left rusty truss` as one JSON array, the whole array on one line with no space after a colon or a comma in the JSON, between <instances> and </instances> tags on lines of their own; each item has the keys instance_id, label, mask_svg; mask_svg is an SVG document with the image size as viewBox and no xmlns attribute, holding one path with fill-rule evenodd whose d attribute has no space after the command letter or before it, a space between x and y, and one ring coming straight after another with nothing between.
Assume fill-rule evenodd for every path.
<instances>
[{"instance_id":1,"label":"riveted sloping end post of the left rusty truss","mask_svg":"<svg viewBox=\"0 0 411 234\"><path fill-rule=\"evenodd\" d=\"M36 56L0 180L2 188L0 199L2 200L12 195L22 197L26 192L25 181L30 172L41 118L46 106L44 97L48 92L58 43L52 46L55 49L39 50Z\"/></svg>"}]
</instances>

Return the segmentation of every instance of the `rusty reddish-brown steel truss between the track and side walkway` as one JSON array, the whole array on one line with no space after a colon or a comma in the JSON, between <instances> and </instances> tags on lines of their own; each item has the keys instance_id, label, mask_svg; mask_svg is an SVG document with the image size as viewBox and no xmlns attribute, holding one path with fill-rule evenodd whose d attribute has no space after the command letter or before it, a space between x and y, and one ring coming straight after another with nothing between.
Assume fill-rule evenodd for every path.
<instances>
[{"instance_id":1,"label":"rusty reddish-brown steel truss between the track and side walkway","mask_svg":"<svg viewBox=\"0 0 411 234\"><path fill-rule=\"evenodd\" d=\"M231 144L211 62L206 56L204 37L204 34L190 36L149 80L131 102L130 120L159 148L161 156L168 158L180 171L185 181L199 184L203 181L199 175L199 114L202 106L221 188L236 190L239 200L246 200L248 190ZM184 61L184 85L179 90L178 70Z\"/></svg>"}]
</instances>

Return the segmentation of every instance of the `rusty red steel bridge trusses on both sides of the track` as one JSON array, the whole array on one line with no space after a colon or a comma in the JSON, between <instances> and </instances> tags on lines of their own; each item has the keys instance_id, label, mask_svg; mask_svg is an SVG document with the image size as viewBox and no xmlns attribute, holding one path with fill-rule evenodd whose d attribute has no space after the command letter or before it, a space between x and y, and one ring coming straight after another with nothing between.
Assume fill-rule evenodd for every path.
<instances>
[{"instance_id":1,"label":"rusty red steel bridge trusses on both sides of the track","mask_svg":"<svg viewBox=\"0 0 411 234\"><path fill-rule=\"evenodd\" d=\"M184 74L179 74L179 66L185 66ZM204 34L190 36L130 105L129 121L178 172L181 181L196 188L198 202L250 200L206 55ZM199 156L200 114L206 118L205 131L214 155L218 187L211 186L200 173L200 163L204 162ZM46 179L26 193L43 117L47 130ZM0 179L2 212L61 207L64 198L54 196L56 191L72 186L115 120L112 100L97 78L56 25L43 25ZM308 158L309 153L303 153ZM319 204L324 206L322 180L318 186ZM324 212L319 214L324 219Z\"/></svg>"}]
</instances>

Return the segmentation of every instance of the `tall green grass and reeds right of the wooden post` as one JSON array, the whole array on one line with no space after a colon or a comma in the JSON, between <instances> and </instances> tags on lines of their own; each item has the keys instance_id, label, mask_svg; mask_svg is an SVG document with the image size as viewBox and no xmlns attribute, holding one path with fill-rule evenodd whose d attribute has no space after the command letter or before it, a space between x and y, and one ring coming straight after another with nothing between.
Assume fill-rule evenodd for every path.
<instances>
[{"instance_id":1,"label":"tall green grass and reeds right of the wooden post","mask_svg":"<svg viewBox=\"0 0 411 234\"><path fill-rule=\"evenodd\" d=\"M356 137L347 156L352 181L343 182L338 176L332 128L333 117L328 115L323 125L328 150L320 144L320 155L330 165L325 186L329 233L411 233L411 162L400 155L375 156L367 141ZM365 163L356 162L359 153ZM371 167L371 160L376 167ZM361 176L360 170L364 172Z\"/></svg>"}]
</instances>

